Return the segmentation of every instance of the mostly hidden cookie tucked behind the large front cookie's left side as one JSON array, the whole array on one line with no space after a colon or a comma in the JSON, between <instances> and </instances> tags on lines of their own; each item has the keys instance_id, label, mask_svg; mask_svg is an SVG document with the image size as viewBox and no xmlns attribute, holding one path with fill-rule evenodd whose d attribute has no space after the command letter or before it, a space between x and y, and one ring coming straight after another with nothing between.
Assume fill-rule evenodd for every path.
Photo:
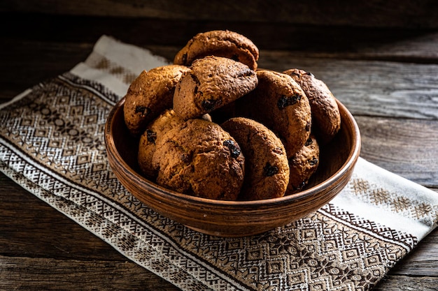
<instances>
[{"instance_id":1,"label":"mostly hidden cookie tucked behind the large front cookie's left side","mask_svg":"<svg viewBox=\"0 0 438 291\"><path fill-rule=\"evenodd\" d=\"M150 122L139 141L139 154L137 156L139 167L145 177L155 179L156 170L152 167L152 158L155 153L155 140L157 136L167 133L176 125L183 123L183 119L175 114L174 110L164 110L159 117Z\"/></svg>"}]
</instances>

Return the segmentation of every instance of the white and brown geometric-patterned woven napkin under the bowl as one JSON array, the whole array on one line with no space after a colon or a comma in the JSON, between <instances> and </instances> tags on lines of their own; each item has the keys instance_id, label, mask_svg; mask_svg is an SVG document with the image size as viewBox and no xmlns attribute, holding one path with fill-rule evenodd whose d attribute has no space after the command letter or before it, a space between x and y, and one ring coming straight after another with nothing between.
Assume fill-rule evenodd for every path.
<instances>
[{"instance_id":1,"label":"white and brown geometric-patterned woven napkin under the bowl","mask_svg":"<svg viewBox=\"0 0 438 291\"><path fill-rule=\"evenodd\" d=\"M141 70L164 64L102 36L83 63L1 105L0 170L182 290L369 290L437 226L437 193L362 158L330 203L253 237L156 214L111 172L104 124Z\"/></svg>"}]
</instances>

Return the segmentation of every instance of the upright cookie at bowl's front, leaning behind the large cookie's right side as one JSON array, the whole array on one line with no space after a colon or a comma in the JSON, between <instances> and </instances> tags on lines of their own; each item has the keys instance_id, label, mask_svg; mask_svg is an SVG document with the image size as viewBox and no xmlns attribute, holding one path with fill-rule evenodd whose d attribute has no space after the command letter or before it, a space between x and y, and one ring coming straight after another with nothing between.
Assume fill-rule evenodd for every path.
<instances>
[{"instance_id":1,"label":"upright cookie at bowl's front, leaning behind the large cookie's right side","mask_svg":"<svg viewBox=\"0 0 438 291\"><path fill-rule=\"evenodd\" d=\"M282 197L289 181L288 157L281 140L253 119L234 117L222 124L245 156L245 179L239 200Z\"/></svg>"}]
</instances>

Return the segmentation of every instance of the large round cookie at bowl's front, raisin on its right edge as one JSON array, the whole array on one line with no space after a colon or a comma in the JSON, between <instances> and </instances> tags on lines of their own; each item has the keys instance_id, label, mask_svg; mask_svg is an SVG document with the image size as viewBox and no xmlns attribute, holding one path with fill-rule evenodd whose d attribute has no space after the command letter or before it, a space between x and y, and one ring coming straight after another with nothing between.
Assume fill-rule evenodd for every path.
<instances>
[{"instance_id":1,"label":"large round cookie at bowl's front, raisin on its right edge","mask_svg":"<svg viewBox=\"0 0 438 291\"><path fill-rule=\"evenodd\" d=\"M218 124L190 119L155 140L157 184L180 193L236 200L244 178L239 145Z\"/></svg>"}]
</instances>

